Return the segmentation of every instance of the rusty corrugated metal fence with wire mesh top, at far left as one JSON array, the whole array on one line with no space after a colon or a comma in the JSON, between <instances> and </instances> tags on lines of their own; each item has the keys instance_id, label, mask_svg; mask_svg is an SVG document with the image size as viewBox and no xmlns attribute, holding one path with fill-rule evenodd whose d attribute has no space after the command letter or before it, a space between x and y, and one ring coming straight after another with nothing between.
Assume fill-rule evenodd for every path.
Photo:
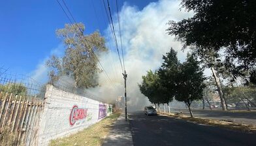
<instances>
[{"instance_id":1,"label":"rusty corrugated metal fence with wire mesh top, at far left","mask_svg":"<svg viewBox=\"0 0 256 146\"><path fill-rule=\"evenodd\" d=\"M45 86L0 67L0 145L37 145Z\"/></svg>"}]
</instances>

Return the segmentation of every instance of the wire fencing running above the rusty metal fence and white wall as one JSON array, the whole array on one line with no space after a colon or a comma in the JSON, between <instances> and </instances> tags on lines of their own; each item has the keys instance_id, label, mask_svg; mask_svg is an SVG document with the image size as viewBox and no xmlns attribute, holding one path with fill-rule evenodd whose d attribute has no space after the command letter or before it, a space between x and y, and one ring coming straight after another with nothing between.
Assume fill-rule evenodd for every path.
<instances>
[{"instance_id":1,"label":"wire fencing running above the rusty metal fence and white wall","mask_svg":"<svg viewBox=\"0 0 256 146\"><path fill-rule=\"evenodd\" d=\"M46 84L41 84L27 75L10 73L8 69L0 67L0 92L22 95L24 100L29 99L29 101L35 98L43 100L46 92ZM103 97L94 95L86 89L76 88L74 86L74 80L71 77L60 77L57 81L51 82L50 84L63 91L108 103Z\"/></svg>"}]
</instances>

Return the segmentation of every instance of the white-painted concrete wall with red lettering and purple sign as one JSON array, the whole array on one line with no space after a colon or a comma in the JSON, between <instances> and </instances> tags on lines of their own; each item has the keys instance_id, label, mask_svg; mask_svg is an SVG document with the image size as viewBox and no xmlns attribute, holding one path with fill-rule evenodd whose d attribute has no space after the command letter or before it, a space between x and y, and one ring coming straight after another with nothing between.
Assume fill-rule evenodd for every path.
<instances>
[{"instance_id":1,"label":"white-painted concrete wall with red lettering and purple sign","mask_svg":"<svg viewBox=\"0 0 256 146\"><path fill-rule=\"evenodd\" d=\"M38 145L74 134L112 113L112 105L101 103L48 85L39 123Z\"/></svg>"}]
</instances>

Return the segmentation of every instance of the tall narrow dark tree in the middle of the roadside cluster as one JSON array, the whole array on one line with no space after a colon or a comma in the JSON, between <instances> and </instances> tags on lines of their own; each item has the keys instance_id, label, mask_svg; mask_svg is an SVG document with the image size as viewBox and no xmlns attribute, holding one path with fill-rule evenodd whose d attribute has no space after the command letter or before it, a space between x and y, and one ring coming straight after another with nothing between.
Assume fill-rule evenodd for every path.
<instances>
[{"instance_id":1,"label":"tall narrow dark tree in the middle of the roadside cluster","mask_svg":"<svg viewBox=\"0 0 256 146\"><path fill-rule=\"evenodd\" d=\"M174 49L170 49L170 52L163 55L163 64L157 71L157 74L160 78L160 84L162 86L162 93L163 93L163 101L168 105L168 113L170 113L170 106L169 103L172 101L173 97L176 95L176 80L177 80L177 73L178 67L180 62L177 58L177 52Z\"/></svg>"}]
</instances>

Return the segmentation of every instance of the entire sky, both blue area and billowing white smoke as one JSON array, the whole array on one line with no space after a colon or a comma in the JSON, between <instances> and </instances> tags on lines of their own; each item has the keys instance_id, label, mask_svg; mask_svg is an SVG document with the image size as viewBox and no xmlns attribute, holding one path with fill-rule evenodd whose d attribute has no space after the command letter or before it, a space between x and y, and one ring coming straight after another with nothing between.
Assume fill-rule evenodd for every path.
<instances>
[{"instance_id":1,"label":"entire sky, both blue area and billowing white smoke","mask_svg":"<svg viewBox=\"0 0 256 146\"><path fill-rule=\"evenodd\" d=\"M116 36L120 36L115 2L110 0L110 8ZM114 101L118 95L123 95L123 77L103 3L101 0L66 0L65 3L76 21L86 25L86 34L99 30L104 36L110 51L99 56L99 60L114 88L106 75L100 73L100 86L87 91ZM128 104L141 107L142 104L149 104L138 89L142 75L146 75L149 69L154 71L159 68L163 62L162 56L171 47L178 51L181 62L184 62L187 55L187 51L181 51L182 43L167 34L168 21L189 18L193 13L180 9L180 0L119 0L118 3L123 58L128 74ZM57 1L7 1L0 6L0 19L0 67L46 82L46 60L51 55L61 56L65 51L55 31L69 23ZM120 38L117 37L117 40L120 45Z\"/></svg>"}]
</instances>

